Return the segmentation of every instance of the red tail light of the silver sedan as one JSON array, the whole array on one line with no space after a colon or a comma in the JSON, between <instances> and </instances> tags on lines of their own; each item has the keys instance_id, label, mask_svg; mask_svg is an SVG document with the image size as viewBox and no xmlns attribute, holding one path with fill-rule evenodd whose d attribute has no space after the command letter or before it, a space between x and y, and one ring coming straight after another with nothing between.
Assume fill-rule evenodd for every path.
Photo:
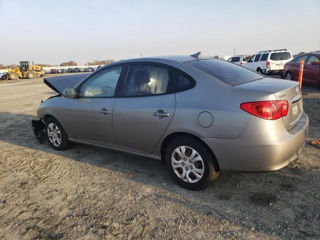
<instances>
[{"instance_id":1,"label":"red tail light of the silver sedan","mask_svg":"<svg viewBox=\"0 0 320 240\"><path fill-rule=\"evenodd\" d=\"M251 101L241 103L240 108L254 116L275 120L281 116L286 116L289 103L287 100Z\"/></svg>"}]
</instances>

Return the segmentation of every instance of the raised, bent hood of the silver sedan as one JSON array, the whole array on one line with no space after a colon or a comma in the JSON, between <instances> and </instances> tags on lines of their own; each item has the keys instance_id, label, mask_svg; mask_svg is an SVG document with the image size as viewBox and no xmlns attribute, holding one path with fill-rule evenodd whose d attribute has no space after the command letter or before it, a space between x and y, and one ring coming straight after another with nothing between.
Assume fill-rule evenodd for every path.
<instances>
[{"instance_id":1,"label":"raised, bent hood of the silver sedan","mask_svg":"<svg viewBox=\"0 0 320 240\"><path fill-rule=\"evenodd\" d=\"M74 87L77 83L79 83L82 79L84 79L84 77L86 77L88 74L90 73L45 77L43 79L43 82L51 89L62 94L62 92L66 88Z\"/></svg>"}]
</instances>

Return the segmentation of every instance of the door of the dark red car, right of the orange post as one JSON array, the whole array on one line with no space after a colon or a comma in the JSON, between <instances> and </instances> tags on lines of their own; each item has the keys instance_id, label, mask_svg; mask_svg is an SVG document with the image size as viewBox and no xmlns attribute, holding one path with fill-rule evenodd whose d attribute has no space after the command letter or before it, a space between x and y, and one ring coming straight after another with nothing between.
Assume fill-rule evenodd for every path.
<instances>
[{"instance_id":1,"label":"door of the dark red car, right of the orange post","mask_svg":"<svg viewBox=\"0 0 320 240\"><path fill-rule=\"evenodd\" d=\"M320 71L320 65L312 65L311 62L317 62L319 63L320 60L314 56L309 55L306 59L306 62L303 66L303 81L306 81L310 84L317 85L319 84L319 71Z\"/></svg>"}]
</instances>

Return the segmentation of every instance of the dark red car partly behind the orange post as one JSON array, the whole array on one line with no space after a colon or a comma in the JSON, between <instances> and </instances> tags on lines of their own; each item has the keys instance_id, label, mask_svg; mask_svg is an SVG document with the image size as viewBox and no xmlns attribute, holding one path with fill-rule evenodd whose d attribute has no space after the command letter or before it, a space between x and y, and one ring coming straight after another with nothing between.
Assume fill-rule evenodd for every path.
<instances>
[{"instance_id":1,"label":"dark red car partly behind the orange post","mask_svg":"<svg viewBox=\"0 0 320 240\"><path fill-rule=\"evenodd\" d=\"M305 53L285 63L282 78L297 81L301 59L304 60L302 82L320 86L320 52Z\"/></svg>"}]
</instances>

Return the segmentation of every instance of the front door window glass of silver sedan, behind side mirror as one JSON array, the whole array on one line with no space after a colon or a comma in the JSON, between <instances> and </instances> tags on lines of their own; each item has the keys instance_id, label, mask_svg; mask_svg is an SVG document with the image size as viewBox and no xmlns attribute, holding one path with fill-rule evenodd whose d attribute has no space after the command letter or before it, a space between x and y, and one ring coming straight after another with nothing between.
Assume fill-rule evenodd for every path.
<instances>
[{"instance_id":1,"label":"front door window glass of silver sedan, behind side mirror","mask_svg":"<svg viewBox=\"0 0 320 240\"><path fill-rule=\"evenodd\" d=\"M79 90L81 97L112 97L123 66L100 71L85 81Z\"/></svg>"}]
</instances>

